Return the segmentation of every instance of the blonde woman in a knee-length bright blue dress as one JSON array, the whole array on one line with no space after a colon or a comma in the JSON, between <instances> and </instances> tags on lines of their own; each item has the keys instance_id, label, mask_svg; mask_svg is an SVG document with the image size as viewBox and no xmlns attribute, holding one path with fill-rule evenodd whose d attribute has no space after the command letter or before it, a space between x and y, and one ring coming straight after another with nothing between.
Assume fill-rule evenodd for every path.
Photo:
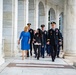
<instances>
[{"instance_id":1,"label":"blonde woman in a knee-length bright blue dress","mask_svg":"<svg viewBox=\"0 0 76 75\"><path fill-rule=\"evenodd\" d=\"M24 27L24 31L21 32L20 38L18 40L18 44L20 44L21 40L21 50L22 50L22 60L24 60L24 56L27 57L27 50L30 49L30 33L28 32L28 27Z\"/></svg>"}]
</instances>

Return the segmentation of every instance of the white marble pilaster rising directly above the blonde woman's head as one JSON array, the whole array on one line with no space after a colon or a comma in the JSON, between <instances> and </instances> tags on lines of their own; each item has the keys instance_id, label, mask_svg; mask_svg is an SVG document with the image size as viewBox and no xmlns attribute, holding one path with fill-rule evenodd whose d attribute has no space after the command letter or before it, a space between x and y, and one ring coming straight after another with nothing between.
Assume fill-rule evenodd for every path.
<instances>
[{"instance_id":1,"label":"white marble pilaster rising directly above the blonde woman's head","mask_svg":"<svg viewBox=\"0 0 76 75\"><path fill-rule=\"evenodd\" d=\"M29 17L29 0L24 0L24 26L28 23L28 17Z\"/></svg>"}]
</instances>

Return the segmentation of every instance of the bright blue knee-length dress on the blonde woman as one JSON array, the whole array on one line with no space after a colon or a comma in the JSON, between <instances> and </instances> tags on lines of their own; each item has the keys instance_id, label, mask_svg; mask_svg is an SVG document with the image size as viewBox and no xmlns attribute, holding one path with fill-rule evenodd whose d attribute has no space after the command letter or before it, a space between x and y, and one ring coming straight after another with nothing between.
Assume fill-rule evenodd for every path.
<instances>
[{"instance_id":1,"label":"bright blue knee-length dress on the blonde woman","mask_svg":"<svg viewBox=\"0 0 76 75\"><path fill-rule=\"evenodd\" d=\"M30 39L30 33L22 31L20 34L20 39L21 39L21 50L29 50L30 44L28 42Z\"/></svg>"}]
</instances>

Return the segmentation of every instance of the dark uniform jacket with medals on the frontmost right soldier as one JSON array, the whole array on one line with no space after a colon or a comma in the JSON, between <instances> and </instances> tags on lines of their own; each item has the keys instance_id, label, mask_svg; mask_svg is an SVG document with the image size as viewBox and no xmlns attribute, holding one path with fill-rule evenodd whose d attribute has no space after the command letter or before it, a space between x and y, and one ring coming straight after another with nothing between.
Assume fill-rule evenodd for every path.
<instances>
[{"instance_id":1,"label":"dark uniform jacket with medals on the frontmost right soldier","mask_svg":"<svg viewBox=\"0 0 76 75\"><path fill-rule=\"evenodd\" d=\"M60 31L58 28L48 30L48 39L51 45L58 45L59 39L61 39Z\"/></svg>"}]
</instances>

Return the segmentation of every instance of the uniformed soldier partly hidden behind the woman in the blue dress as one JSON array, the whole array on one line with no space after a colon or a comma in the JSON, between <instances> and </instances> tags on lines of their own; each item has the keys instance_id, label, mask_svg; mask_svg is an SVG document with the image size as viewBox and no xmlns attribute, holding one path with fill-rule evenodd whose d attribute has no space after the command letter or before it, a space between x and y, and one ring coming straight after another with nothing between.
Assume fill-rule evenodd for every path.
<instances>
[{"instance_id":1,"label":"uniformed soldier partly hidden behind the woman in the blue dress","mask_svg":"<svg viewBox=\"0 0 76 75\"><path fill-rule=\"evenodd\" d=\"M32 44L33 44L34 30L30 28L31 23L27 23L27 25L28 25L28 29L29 29L30 37L31 37L31 40L30 40L30 55L32 56ZM29 57L29 52L27 53L27 56Z\"/></svg>"}]
</instances>

